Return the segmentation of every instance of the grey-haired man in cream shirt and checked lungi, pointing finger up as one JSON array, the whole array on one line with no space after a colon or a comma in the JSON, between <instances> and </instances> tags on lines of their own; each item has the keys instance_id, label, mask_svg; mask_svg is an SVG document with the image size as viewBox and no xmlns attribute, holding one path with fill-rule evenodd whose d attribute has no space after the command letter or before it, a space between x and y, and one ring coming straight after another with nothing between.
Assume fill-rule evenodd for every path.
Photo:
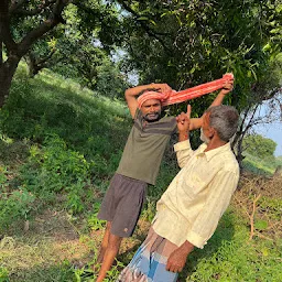
<instances>
[{"instance_id":1,"label":"grey-haired man in cream shirt and checked lungi, pointing finger up","mask_svg":"<svg viewBox=\"0 0 282 282\"><path fill-rule=\"evenodd\" d=\"M213 236L239 180L239 166L229 140L238 127L234 107L210 107L203 116L200 139L193 151L188 141L191 107L177 118L174 145L180 173L156 204L156 215L145 241L121 272L122 282L174 282L196 246Z\"/></svg>"}]
</instances>

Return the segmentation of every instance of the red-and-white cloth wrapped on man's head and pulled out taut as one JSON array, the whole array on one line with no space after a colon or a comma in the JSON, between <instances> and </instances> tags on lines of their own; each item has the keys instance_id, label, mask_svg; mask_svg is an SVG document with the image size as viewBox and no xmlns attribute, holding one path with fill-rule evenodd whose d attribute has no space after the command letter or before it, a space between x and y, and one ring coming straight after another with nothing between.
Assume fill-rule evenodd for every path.
<instances>
[{"instance_id":1,"label":"red-and-white cloth wrapped on man's head and pulled out taut","mask_svg":"<svg viewBox=\"0 0 282 282\"><path fill-rule=\"evenodd\" d=\"M162 106L192 100L205 94L209 94L223 88L226 83L232 79L234 79L234 75L229 73L229 74L225 74L220 79L216 79L214 82L202 84L202 85L198 85L185 90L181 90L181 91L173 90L170 94L162 94L158 91L145 91L138 97L137 99L138 107L141 108L143 102L150 99L161 100Z\"/></svg>"}]
</instances>

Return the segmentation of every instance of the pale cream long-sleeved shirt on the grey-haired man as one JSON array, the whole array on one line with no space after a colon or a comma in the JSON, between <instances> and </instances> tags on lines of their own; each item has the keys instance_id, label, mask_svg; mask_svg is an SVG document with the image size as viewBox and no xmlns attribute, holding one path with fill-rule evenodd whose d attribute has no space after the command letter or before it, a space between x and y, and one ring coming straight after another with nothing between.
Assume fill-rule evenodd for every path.
<instances>
[{"instance_id":1,"label":"pale cream long-sleeved shirt on the grey-haired man","mask_svg":"<svg viewBox=\"0 0 282 282\"><path fill-rule=\"evenodd\" d=\"M227 143L204 152L189 141L174 145L182 169L156 204L154 231L181 246L186 240L198 248L213 236L238 185L239 165Z\"/></svg>"}]
</instances>

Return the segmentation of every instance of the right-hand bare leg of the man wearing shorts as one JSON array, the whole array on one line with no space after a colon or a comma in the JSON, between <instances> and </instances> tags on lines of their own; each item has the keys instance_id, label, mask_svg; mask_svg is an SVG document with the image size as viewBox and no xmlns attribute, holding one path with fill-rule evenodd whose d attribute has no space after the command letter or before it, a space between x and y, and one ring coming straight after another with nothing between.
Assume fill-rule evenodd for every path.
<instances>
[{"instance_id":1,"label":"right-hand bare leg of the man wearing shorts","mask_svg":"<svg viewBox=\"0 0 282 282\"><path fill-rule=\"evenodd\" d=\"M118 254L121 240L122 238L119 236L112 234L109 235L108 246L105 251L101 269L96 282L102 282L106 278L107 271L110 270L111 264Z\"/></svg>"}]
</instances>

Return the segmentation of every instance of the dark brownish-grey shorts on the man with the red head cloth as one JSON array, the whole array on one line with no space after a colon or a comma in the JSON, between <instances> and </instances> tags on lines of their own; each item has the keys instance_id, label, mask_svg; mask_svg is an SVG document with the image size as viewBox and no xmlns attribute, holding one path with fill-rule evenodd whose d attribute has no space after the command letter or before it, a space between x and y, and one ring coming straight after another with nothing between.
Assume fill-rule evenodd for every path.
<instances>
[{"instance_id":1,"label":"dark brownish-grey shorts on the man with the red head cloth","mask_svg":"<svg viewBox=\"0 0 282 282\"><path fill-rule=\"evenodd\" d=\"M98 218L111 221L111 234L130 237L137 226L148 184L115 174L102 199Z\"/></svg>"}]
</instances>

